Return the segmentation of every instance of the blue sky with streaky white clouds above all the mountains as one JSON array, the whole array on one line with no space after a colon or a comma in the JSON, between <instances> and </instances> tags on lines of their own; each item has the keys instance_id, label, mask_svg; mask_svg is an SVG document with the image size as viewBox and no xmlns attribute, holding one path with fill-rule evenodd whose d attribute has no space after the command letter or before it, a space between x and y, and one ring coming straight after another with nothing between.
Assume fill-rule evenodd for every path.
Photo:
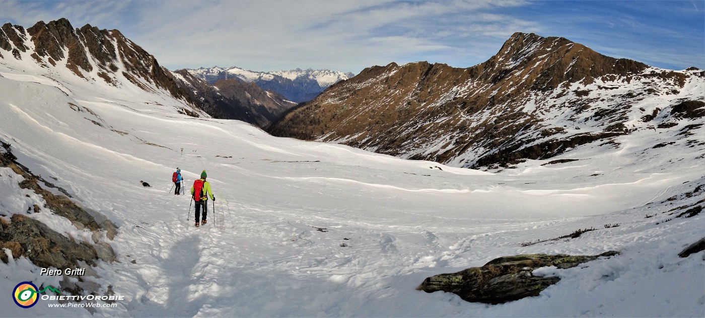
<instances>
[{"instance_id":1,"label":"blue sky with streaky white clouds above all the mountains","mask_svg":"<svg viewBox=\"0 0 705 318\"><path fill-rule=\"evenodd\" d=\"M705 0L0 0L0 23L117 29L171 70L482 63L513 32L659 68L705 68Z\"/></svg>"}]
</instances>

